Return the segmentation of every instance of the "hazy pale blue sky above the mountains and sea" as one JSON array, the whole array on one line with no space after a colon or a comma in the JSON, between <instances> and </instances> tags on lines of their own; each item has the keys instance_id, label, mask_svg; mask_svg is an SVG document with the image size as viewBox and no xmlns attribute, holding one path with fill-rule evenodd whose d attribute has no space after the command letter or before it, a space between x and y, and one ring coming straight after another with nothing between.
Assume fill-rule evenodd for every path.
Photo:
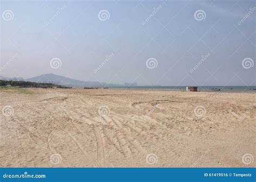
<instances>
[{"instance_id":1,"label":"hazy pale blue sky above the mountains and sea","mask_svg":"<svg viewBox=\"0 0 256 182\"><path fill-rule=\"evenodd\" d=\"M1 1L0 75L255 86L255 2Z\"/></svg>"}]
</instances>

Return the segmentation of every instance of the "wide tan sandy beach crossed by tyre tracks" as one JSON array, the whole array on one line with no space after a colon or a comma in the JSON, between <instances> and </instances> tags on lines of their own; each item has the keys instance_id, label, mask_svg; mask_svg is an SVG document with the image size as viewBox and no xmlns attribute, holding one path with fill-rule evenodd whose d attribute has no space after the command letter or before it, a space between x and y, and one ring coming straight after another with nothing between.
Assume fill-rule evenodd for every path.
<instances>
[{"instance_id":1,"label":"wide tan sandy beach crossed by tyre tracks","mask_svg":"<svg viewBox=\"0 0 256 182\"><path fill-rule=\"evenodd\" d=\"M0 165L255 167L255 96L0 89Z\"/></svg>"}]
</instances>

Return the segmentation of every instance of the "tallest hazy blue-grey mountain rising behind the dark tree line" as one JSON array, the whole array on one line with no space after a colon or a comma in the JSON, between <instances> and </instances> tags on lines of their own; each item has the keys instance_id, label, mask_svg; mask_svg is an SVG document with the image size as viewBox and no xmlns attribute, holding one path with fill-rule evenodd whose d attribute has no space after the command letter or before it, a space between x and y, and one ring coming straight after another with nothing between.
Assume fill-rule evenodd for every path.
<instances>
[{"instance_id":1,"label":"tallest hazy blue-grey mountain rising behind the dark tree line","mask_svg":"<svg viewBox=\"0 0 256 182\"><path fill-rule=\"evenodd\" d=\"M63 85L68 87L103 87L100 82L94 81L80 81L75 79L70 79L65 76L59 76L56 74L42 74L26 81L37 82L37 83L55 83L57 85Z\"/></svg>"}]
</instances>

